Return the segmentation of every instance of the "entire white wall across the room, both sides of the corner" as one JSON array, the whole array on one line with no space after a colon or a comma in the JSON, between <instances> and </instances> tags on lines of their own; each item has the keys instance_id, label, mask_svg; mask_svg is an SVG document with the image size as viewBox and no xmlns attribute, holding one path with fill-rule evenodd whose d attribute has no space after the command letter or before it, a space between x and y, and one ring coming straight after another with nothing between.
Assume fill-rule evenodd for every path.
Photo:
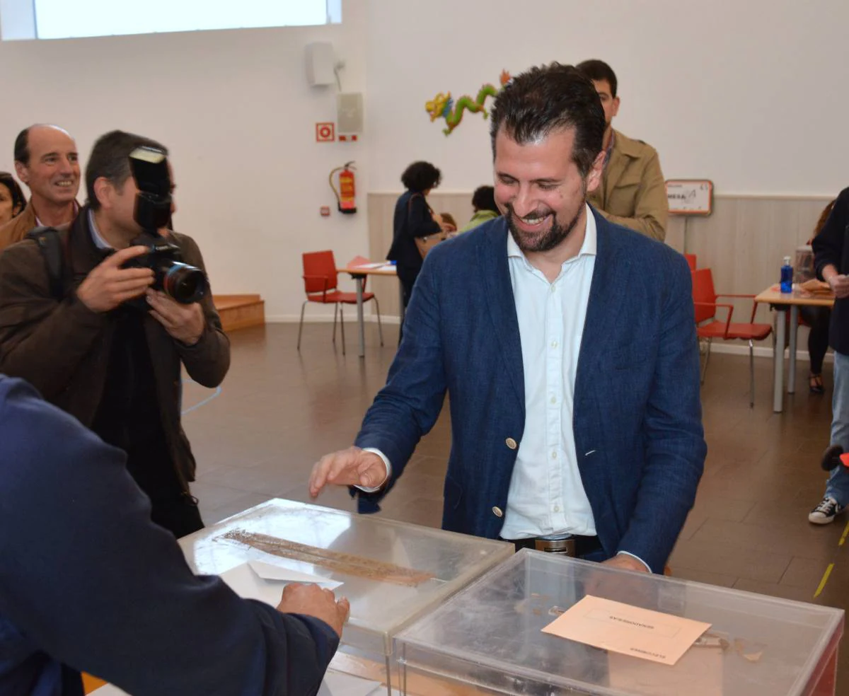
<instances>
[{"instance_id":1,"label":"entire white wall across the room, both sides of the corner","mask_svg":"<svg viewBox=\"0 0 849 696\"><path fill-rule=\"evenodd\" d=\"M446 138L424 102L475 94L552 59L607 59L616 125L661 152L666 177L717 193L835 194L846 183L845 0L345 0L340 26L0 42L0 168L21 127L53 121L87 154L112 128L166 143L177 229L199 240L217 293L260 292L269 317L300 311L301 252L368 253L366 192L399 190L426 158L442 191L491 181L486 122ZM333 42L343 87L363 91L357 144L318 144L335 88L308 87L304 47ZM334 211L330 169L357 160L356 216ZM745 233L741 230L740 233ZM380 256L382 250L372 250ZM348 287L350 282L346 281Z\"/></svg>"}]
</instances>

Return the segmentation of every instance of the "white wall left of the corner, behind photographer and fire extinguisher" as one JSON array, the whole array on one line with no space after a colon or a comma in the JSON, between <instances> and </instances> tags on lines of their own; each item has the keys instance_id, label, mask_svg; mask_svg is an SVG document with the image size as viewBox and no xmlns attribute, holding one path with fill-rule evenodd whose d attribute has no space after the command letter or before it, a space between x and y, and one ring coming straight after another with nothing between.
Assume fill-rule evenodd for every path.
<instances>
[{"instance_id":1,"label":"white wall left of the corner, behind photographer and fire extinguisher","mask_svg":"<svg viewBox=\"0 0 849 696\"><path fill-rule=\"evenodd\" d=\"M357 160L364 205L368 153L315 143L315 122L335 121L336 88L306 82L304 47L330 41L343 88L365 90L364 15L349 4L344 25L0 42L0 169L32 122L64 126L83 159L113 128L156 138L171 149L175 227L200 243L214 291L259 292L270 317L297 314L302 251L368 250L364 211L341 216L327 180Z\"/></svg>"}]
</instances>

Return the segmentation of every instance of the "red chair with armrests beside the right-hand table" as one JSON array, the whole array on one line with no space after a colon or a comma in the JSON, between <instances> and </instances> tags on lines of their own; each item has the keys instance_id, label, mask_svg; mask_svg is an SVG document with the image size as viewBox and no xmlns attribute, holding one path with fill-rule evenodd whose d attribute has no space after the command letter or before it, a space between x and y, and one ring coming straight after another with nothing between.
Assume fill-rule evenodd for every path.
<instances>
[{"instance_id":1,"label":"red chair with armrests beside the right-hand table","mask_svg":"<svg viewBox=\"0 0 849 696\"><path fill-rule=\"evenodd\" d=\"M755 348L754 341L765 340L773 333L772 324L756 324L755 312L757 305L752 302L751 320L749 323L732 323L734 306L725 303L717 303L720 297L748 298L754 300L755 295L717 295L713 289L713 275L710 268L699 268L693 272L693 304L695 308L696 335L700 339L707 340L707 356L705 368L701 373L701 382L705 383L707 374L707 363L711 360L711 341L721 340L746 340L749 341L749 373L751 399L749 405L755 407ZM722 307L728 310L725 321L717 319L717 309Z\"/></svg>"}]
</instances>

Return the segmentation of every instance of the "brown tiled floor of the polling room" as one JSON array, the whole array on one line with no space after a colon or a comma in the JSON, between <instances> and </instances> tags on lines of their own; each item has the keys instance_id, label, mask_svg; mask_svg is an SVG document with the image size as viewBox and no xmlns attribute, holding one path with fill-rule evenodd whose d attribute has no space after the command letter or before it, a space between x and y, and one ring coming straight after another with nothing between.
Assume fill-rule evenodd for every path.
<instances>
[{"instance_id":1,"label":"brown tiled floor of the polling room","mask_svg":"<svg viewBox=\"0 0 849 696\"><path fill-rule=\"evenodd\" d=\"M219 396L188 413L184 427L198 460L195 494L207 524L270 497L308 499L312 464L351 444L394 354L395 332L380 348L367 327L367 355L347 356L330 342L329 324L274 324L232 336L233 367ZM830 365L824 396L807 390L800 363L797 393L784 413L772 410L772 363L756 361L756 404L749 407L748 359L714 354L702 392L708 443L695 507L672 554L678 577L846 608L849 558L840 546L846 519L816 527L807 513L824 491L818 458L828 444ZM185 407L211 396L189 384ZM438 526L450 446L447 409L421 442L380 513ZM318 502L352 510L346 491ZM834 569L814 598L824 571ZM849 694L849 641L842 651L838 693Z\"/></svg>"}]
</instances>

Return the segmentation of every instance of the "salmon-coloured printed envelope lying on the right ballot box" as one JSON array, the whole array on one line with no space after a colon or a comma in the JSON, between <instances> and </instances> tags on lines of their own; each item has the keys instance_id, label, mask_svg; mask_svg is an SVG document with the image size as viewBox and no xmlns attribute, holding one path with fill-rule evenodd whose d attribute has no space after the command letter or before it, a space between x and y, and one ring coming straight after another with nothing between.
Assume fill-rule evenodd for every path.
<instances>
[{"instance_id":1,"label":"salmon-coloured printed envelope lying on the right ballot box","mask_svg":"<svg viewBox=\"0 0 849 696\"><path fill-rule=\"evenodd\" d=\"M674 665L710 627L701 621L587 595L545 626L543 632Z\"/></svg>"}]
</instances>

